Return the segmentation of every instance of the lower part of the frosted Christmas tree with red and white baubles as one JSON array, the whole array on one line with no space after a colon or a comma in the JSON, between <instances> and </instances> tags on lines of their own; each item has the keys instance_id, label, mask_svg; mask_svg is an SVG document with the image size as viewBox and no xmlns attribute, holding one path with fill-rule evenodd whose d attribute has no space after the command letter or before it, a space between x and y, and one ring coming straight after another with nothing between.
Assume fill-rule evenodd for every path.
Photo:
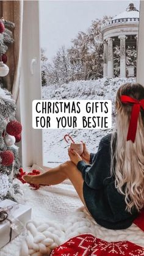
<instances>
[{"instance_id":1,"label":"lower part of the frosted Christmas tree with red and white baubles","mask_svg":"<svg viewBox=\"0 0 144 256\"><path fill-rule=\"evenodd\" d=\"M16 121L15 101L6 89L0 87L0 201L4 199L15 200L15 194L20 192L20 187L15 180L20 168L18 147L15 137L7 133L7 125ZM16 139L18 142L18 137Z\"/></svg>"}]
</instances>

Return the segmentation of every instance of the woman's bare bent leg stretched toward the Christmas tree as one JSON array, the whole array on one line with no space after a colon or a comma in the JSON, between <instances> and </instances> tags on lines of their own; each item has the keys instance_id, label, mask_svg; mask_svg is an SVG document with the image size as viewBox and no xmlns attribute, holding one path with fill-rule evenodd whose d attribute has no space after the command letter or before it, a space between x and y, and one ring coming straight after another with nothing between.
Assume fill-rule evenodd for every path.
<instances>
[{"instance_id":1,"label":"woman's bare bent leg stretched toward the Christmas tree","mask_svg":"<svg viewBox=\"0 0 144 256\"><path fill-rule=\"evenodd\" d=\"M76 189L76 192L82 200L82 203L85 205L82 192L84 180L82 178L81 172L71 161L67 161L66 163L60 164L60 166L49 169L43 174L37 176L24 175L23 178L28 183L41 185L56 185L68 178Z\"/></svg>"}]
</instances>

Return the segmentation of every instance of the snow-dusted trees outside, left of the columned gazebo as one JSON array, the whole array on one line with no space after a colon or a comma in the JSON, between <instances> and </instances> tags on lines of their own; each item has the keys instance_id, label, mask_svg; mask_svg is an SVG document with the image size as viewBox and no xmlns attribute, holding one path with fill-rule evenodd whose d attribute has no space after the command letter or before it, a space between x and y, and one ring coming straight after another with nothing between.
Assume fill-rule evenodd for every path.
<instances>
[{"instance_id":1,"label":"snow-dusted trees outside, left of the columned gazebo","mask_svg":"<svg viewBox=\"0 0 144 256\"><path fill-rule=\"evenodd\" d=\"M103 77L103 40L101 25L110 20L92 21L86 32L80 31L71 40L71 47L59 49L52 64L48 65L48 84L62 84L74 80L88 80Z\"/></svg>"}]
</instances>

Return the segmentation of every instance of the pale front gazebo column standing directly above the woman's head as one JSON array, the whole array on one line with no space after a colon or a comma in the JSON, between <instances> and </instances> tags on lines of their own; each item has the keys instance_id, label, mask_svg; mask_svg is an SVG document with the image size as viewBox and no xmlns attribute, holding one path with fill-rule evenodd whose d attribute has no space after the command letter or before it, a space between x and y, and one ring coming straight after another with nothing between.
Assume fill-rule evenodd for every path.
<instances>
[{"instance_id":1,"label":"pale front gazebo column standing directly above the woman's head","mask_svg":"<svg viewBox=\"0 0 144 256\"><path fill-rule=\"evenodd\" d=\"M120 39L120 77L126 77L126 35L119 35Z\"/></svg>"}]
</instances>

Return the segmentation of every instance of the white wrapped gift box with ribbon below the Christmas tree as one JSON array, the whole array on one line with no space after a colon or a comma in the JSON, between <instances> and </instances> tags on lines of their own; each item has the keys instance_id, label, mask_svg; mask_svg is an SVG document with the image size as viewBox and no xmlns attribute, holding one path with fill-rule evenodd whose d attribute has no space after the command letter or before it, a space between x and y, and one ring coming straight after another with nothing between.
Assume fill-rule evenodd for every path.
<instances>
[{"instance_id":1,"label":"white wrapped gift box with ribbon below the Christmas tree","mask_svg":"<svg viewBox=\"0 0 144 256\"><path fill-rule=\"evenodd\" d=\"M23 230L26 222L31 219L31 207L27 205L21 205L20 203L13 202L11 200L3 200L0 202L1 208L10 207L10 213L5 221L0 222L0 248L19 235ZM0 209L1 211L1 209ZM9 221L9 220L10 221ZM11 222L11 224L10 224Z\"/></svg>"}]
</instances>

